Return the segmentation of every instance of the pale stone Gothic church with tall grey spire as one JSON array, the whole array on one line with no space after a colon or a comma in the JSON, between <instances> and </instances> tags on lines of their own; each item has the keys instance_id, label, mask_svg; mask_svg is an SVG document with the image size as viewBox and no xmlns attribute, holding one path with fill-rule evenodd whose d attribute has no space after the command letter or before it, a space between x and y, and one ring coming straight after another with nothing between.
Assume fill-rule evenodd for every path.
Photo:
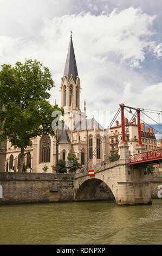
<instances>
[{"instance_id":1,"label":"pale stone Gothic church with tall grey spire","mask_svg":"<svg viewBox=\"0 0 162 256\"><path fill-rule=\"evenodd\" d=\"M48 172L52 173L58 160L67 161L68 155L72 154L76 155L82 166L85 166L88 160L88 167L106 160L109 152L108 135L102 137L105 134L105 129L94 118L87 118L86 100L84 109L81 111L80 100L81 83L71 35L64 74L61 78L61 107L64 109L63 129L57 128L55 137L43 135L31 138L31 145L25 150L24 157L24 166L26 166L27 172L40 173L43 172L43 167L47 166ZM11 142L8 140L5 170L7 172L18 171L19 161L20 148L11 146Z\"/></svg>"}]
</instances>

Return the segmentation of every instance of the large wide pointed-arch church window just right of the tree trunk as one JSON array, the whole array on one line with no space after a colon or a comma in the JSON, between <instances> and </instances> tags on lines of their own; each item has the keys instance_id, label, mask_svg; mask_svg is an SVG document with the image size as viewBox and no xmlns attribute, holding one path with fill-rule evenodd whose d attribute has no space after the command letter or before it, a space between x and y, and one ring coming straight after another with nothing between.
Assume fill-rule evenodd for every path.
<instances>
[{"instance_id":1,"label":"large wide pointed-arch church window just right of the tree trunk","mask_svg":"<svg viewBox=\"0 0 162 256\"><path fill-rule=\"evenodd\" d=\"M50 137L43 135L40 141L40 163L50 162Z\"/></svg>"}]
</instances>

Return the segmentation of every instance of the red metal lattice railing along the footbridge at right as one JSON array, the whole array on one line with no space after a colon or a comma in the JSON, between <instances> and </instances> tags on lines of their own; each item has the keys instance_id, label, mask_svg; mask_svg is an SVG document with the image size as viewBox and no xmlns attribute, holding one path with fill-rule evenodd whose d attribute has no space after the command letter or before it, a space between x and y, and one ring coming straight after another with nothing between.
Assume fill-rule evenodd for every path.
<instances>
[{"instance_id":1,"label":"red metal lattice railing along the footbridge at right","mask_svg":"<svg viewBox=\"0 0 162 256\"><path fill-rule=\"evenodd\" d=\"M129 156L130 163L149 162L150 160L162 160L162 149L148 151Z\"/></svg>"}]
</instances>

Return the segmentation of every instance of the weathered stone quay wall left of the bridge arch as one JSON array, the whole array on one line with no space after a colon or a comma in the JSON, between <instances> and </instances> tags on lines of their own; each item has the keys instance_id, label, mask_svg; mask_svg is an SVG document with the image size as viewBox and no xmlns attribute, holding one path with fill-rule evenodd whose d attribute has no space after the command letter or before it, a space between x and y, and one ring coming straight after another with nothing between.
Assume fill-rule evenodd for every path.
<instances>
[{"instance_id":1,"label":"weathered stone quay wall left of the bridge arch","mask_svg":"<svg viewBox=\"0 0 162 256\"><path fill-rule=\"evenodd\" d=\"M0 173L0 204L73 201L73 174Z\"/></svg>"}]
</instances>

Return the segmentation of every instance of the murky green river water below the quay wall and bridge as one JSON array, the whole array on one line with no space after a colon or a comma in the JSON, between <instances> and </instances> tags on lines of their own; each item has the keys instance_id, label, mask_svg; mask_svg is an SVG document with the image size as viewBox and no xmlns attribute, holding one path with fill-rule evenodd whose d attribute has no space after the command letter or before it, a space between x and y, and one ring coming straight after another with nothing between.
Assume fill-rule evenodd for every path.
<instances>
[{"instance_id":1,"label":"murky green river water below the quay wall and bridge","mask_svg":"<svg viewBox=\"0 0 162 256\"><path fill-rule=\"evenodd\" d=\"M161 244L162 199L0 206L0 244Z\"/></svg>"}]
</instances>

